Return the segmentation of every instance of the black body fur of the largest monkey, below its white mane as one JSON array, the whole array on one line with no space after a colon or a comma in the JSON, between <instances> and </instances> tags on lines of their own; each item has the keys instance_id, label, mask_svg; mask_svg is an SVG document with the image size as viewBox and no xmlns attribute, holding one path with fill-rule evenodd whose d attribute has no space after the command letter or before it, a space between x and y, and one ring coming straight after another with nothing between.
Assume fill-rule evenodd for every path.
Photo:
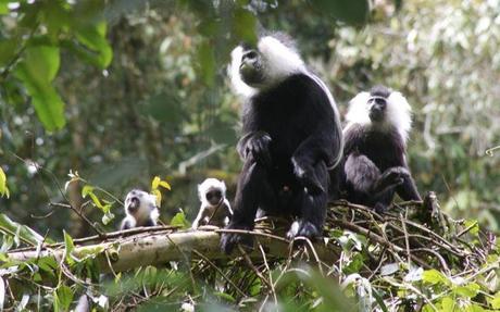
<instances>
[{"instance_id":1,"label":"black body fur of the largest monkey, below its white mane","mask_svg":"<svg viewBox=\"0 0 500 312\"><path fill-rule=\"evenodd\" d=\"M341 134L325 91L307 74L293 74L260 91L243 110L237 150L245 164L228 228L253 229L258 209L299 217L289 236L314 237L322 230L329 177L341 149ZM230 252L248 237L224 234Z\"/></svg>"}]
</instances>

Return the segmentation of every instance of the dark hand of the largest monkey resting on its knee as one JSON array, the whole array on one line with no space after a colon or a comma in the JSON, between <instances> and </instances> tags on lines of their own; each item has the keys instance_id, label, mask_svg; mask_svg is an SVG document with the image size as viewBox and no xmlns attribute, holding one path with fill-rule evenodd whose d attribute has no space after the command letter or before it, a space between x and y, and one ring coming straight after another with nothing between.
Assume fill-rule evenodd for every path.
<instances>
[{"instance_id":1,"label":"dark hand of the largest monkey resting on its knee","mask_svg":"<svg viewBox=\"0 0 500 312\"><path fill-rule=\"evenodd\" d=\"M271 137L265 132L250 132L246 134L236 146L241 160L253 158L257 162L270 165L271 153L270 146Z\"/></svg>"}]
</instances>

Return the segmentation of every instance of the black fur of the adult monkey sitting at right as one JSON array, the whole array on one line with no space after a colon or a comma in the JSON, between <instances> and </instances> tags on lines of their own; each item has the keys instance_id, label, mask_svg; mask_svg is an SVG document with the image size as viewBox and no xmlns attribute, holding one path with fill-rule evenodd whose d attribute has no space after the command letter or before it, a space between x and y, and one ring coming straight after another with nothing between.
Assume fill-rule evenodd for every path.
<instances>
[{"instance_id":1,"label":"black fur of the adult monkey sitting at right","mask_svg":"<svg viewBox=\"0 0 500 312\"><path fill-rule=\"evenodd\" d=\"M378 87L371 95L387 98L389 92ZM421 200L397 128L353 124L343 139L341 189L348 201L385 211L395 194L403 200Z\"/></svg>"}]
</instances>

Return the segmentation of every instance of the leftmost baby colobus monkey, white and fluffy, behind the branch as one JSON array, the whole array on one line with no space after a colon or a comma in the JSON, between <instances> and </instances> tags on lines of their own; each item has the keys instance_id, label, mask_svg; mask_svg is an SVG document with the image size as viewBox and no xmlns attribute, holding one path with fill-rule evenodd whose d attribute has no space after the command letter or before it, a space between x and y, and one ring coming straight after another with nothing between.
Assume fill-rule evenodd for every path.
<instances>
[{"instance_id":1,"label":"leftmost baby colobus monkey, white and fluffy, behind the branch","mask_svg":"<svg viewBox=\"0 0 500 312\"><path fill-rule=\"evenodd\" d=\"M133 189L125 198L125 219L120 229L138 226L154 226L158 223L160 211L157 207L157 197L140 189Z\"/></svg>"}]
</instances>

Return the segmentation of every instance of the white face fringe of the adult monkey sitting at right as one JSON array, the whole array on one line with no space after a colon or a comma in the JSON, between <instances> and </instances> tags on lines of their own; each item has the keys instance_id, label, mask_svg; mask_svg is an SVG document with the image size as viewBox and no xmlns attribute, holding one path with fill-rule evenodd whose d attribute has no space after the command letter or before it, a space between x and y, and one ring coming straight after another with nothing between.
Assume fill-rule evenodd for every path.
<instances>
[{"instance_id":1,"label":"white face fringe of the adult monkey sitting at right","mask_svg":"<svg viewBox=\"0 0 500 312\"><path fill-rule=\"evenodd\" d=\"M359 124L370 126L370 107L368 107L368 92L358 93L349 102L349 111L346 115L348 125L345 132L352 125ZM412 127L411 107L407 99L400 92L391 92L387 99L386 120L385 124L393 126L401 135L404 142L408 140L410 129Z\"/></svg>"}]
</instances>

